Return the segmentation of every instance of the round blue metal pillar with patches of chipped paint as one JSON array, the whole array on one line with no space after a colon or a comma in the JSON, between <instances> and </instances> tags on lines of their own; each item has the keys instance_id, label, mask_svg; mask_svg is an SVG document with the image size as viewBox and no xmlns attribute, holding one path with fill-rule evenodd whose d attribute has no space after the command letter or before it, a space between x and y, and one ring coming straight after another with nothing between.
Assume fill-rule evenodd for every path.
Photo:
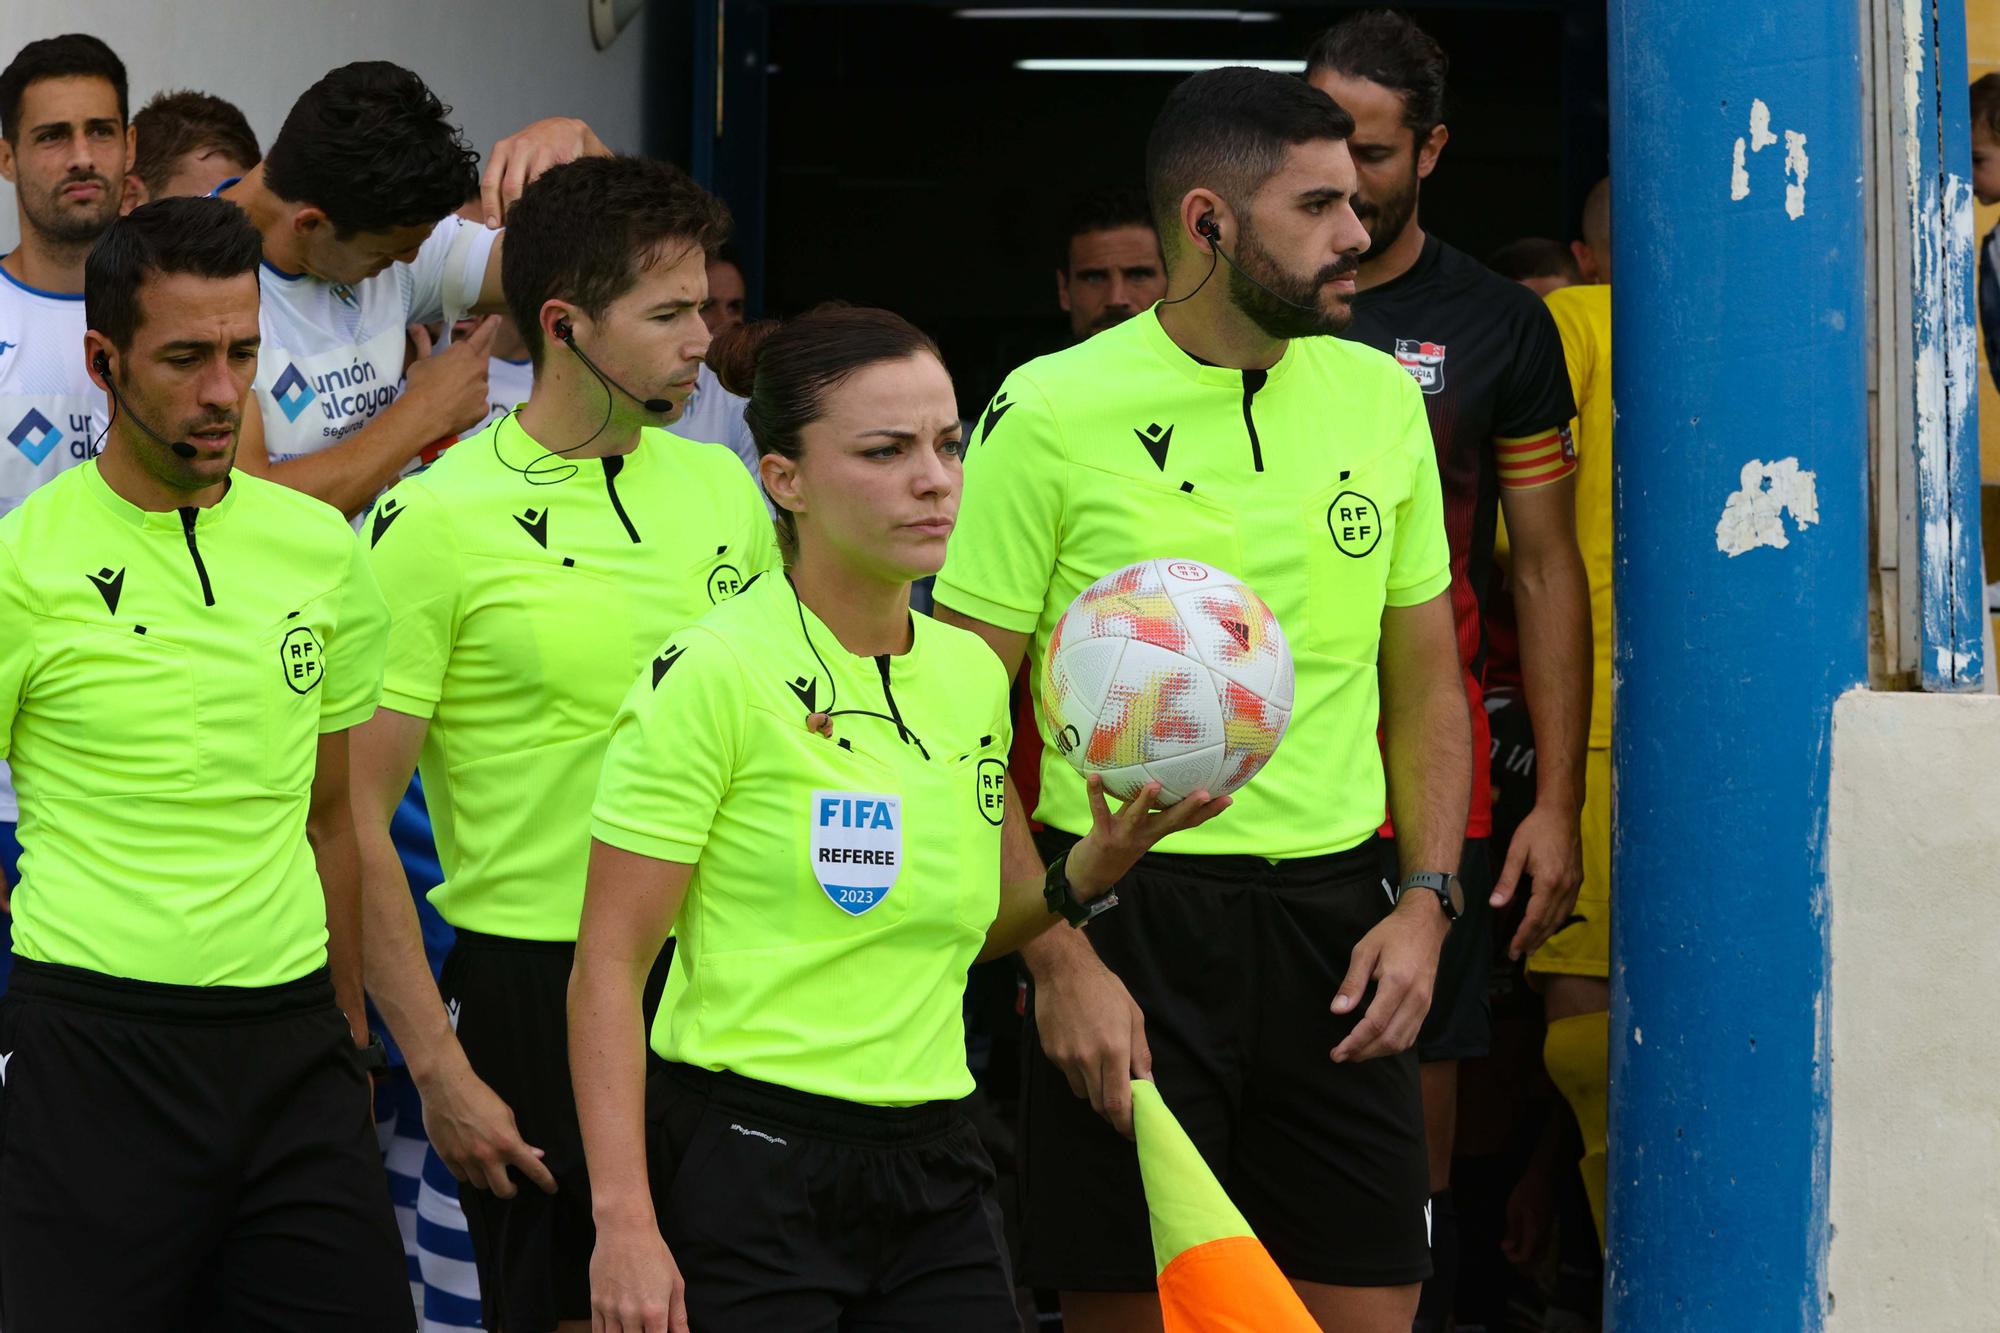
<instances>
[{"instance_id":1,"label":"round blue metal pillar with patches of chipped paint","mask_svg":"<svg viewBox=\"0 0 2000 1333\"><path fill-rule=\"evenodd\" d=\"M1868 671L1860 10L1610 0L1620 1333L1824 1317L1828 755Z\"/></svg>"}]
</instances>

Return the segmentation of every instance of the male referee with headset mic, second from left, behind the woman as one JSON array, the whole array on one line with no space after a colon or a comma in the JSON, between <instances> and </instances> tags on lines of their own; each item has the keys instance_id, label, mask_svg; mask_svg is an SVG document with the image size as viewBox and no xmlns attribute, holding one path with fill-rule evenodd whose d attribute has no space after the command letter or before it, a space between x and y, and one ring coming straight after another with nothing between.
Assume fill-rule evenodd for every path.
<instances>
[{"instance_id":1,"label":"male referee with headset mic, second from left, behind the woman","mask_svg":"<svg viewBox=\"0 0 2000 1333\"><path fill-rule=\"evenodd\" d=\"M508 1333L590 1321L564 999L612 717L670 632L778 562L742 464L660 430L708 348L706 256L726 232L724 206L666 162L590 158L530 184L504 264L528 402L362 528L392 616L354 763L368 979L432 1143L472 1187L486 1321ZM446 1003L390 845L418 765L444 865L432 901L458 931Z\"/></svg>"}]
</instances>

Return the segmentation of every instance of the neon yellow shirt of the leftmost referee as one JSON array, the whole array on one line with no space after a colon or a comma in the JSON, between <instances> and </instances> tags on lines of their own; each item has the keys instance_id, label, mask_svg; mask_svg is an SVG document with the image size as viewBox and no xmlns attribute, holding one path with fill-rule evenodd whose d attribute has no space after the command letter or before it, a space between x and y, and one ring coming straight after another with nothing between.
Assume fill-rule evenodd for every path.
<instances>
[{"instance_id":1,"label":"neon yellow shirt of the leftmost referee","mask_svg":"<svg viewBox=\"0 0 2000 1333\"><path fill-rule=\"evenodd\" d=\"M346 520L244 472L156 514L86 462L0 518L14 951L200 987L324 967L318 737L374 713L386 624Z\"/></svg>"}]
</instances>

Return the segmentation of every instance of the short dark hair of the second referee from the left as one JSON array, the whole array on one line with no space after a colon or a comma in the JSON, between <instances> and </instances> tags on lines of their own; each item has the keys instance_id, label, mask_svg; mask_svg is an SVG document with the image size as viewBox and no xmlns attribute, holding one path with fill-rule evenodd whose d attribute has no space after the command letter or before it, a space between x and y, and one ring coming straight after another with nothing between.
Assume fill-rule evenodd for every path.
<instances>
[{"instance_id":1,"label":"short dark hair of the second referee from the left","mask_svg":"<svg viewBox=\"0 0 2000 1333\"><path fill-rule=\"evenodd\" d=\"M544 302L574 300L598 318L662 246L714 254L728 234L728 204L672 162L578 158L536 176L508 208L500 290L540 366Z\"/></svg>"}]
</instances>

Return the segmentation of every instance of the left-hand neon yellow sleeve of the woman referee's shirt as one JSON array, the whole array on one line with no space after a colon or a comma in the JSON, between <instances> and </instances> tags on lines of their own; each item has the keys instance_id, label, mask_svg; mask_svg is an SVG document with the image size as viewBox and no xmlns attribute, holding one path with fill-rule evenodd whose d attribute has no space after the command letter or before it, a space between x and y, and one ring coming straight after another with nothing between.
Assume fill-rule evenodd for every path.
<instances>
[{"instance_id":1,"label":"left-hand neon yellow sleeve of the woman referee's shirt","mask_svg":"<svg viewBox=\"0 0 2000 1333\"><path fill-rule=\"evenodd\" d=\"M654 861L702 859L748 733L744 677L700 624L640 669L604 747L590 837Z\"/></svg>"}]
</instances>

